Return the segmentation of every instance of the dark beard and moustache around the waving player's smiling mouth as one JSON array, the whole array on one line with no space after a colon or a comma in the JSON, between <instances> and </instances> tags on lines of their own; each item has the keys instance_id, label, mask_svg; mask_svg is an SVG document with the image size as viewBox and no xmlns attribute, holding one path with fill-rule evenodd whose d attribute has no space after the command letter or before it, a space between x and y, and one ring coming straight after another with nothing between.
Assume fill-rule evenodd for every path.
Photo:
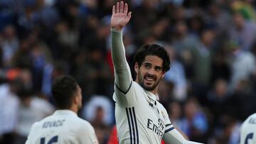
<instances>
[{"instance_id":1,"label":"dark beard and moustache around the waving player's smiling mouth","mask_svg":"<svg viewBox=\"0 0 256 144\"><path fill-rule=\"evenodd\" d=\"M152 86L146 86L144 84L144 79L146 77L151 77L151 78L154 78L154 84ZM156 79L156 76L154 75L149 75L149 74L145 74L144 77L142 76L142 74L139 72L138 74L138 78L139 78L139 85L142 86L144 89L146 89L147 91L153 91L157 85L159 84L160 82L160 79Z\"/></svg>"}]
</instances>

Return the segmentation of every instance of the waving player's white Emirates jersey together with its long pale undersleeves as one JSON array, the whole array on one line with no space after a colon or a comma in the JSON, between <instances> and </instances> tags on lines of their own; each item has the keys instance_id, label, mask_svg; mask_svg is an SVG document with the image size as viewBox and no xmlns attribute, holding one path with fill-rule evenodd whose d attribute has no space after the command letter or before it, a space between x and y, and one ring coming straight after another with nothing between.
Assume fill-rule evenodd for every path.
<instances>
[{"instance_id":1,"label":"waving player's white Emirates jersey together with its long pale undersleeves","mask_svg":"<svg viewBox=\"0 0 256 144\"><path fill-rule=\"evenodd\" d=\"M169 120L168 113L156 94L132 82L132 74L125 59L122 32L112 29L112 60L114 63L115 119L120 144L185 143L186 140ZM172 132L174 131L174 132ZM175 138L175 140L173 140Z\"/></svg>"}]
</instances>

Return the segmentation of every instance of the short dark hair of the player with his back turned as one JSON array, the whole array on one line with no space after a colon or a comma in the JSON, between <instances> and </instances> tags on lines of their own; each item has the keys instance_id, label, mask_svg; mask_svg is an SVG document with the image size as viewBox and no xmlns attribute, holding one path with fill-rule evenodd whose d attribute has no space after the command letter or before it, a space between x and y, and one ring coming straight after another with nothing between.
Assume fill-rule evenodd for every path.
<instances>
[{"instance_id":1,"label":"short dark hair of the player with his back turned","mask_svg":"<svg viewBox=\"0 0 256 144\"><path fill-rule=\"evenodd\" d=\"M69 109L72 99L78 90L78 83L71 76L57 77L53 82L52 93L58 109Z\"/></svg>"}]
</instances>

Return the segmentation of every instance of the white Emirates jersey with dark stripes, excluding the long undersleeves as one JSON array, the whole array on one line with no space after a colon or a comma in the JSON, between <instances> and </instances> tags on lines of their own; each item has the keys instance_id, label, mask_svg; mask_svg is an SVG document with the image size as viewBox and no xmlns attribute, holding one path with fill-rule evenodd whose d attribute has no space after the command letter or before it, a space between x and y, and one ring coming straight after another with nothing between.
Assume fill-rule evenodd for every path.
<instances>
[{"instance_id":1,"label":"white Emirates jersey with dark stripes, excluding the long undersleeves","mask_svg":"<svg viewBox=\"0 0 256 144\"><path fill-rule=\"evenodd\" d=\"M161 143L164 133L174 129L158 96L132 82L128 92L115 87L113 99L119 143Z\"/></svg>"}]
</instances>

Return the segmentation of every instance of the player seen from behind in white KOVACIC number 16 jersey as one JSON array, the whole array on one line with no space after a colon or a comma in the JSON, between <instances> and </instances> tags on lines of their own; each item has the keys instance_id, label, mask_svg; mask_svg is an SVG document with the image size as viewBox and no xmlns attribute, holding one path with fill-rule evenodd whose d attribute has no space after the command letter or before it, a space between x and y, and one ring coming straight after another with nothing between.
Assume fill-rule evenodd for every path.
<instances>
[{"instance_id":1,"label":"player seen from behind in white KOVACIC number 16 jersey","mask_svg":"<svg viewBox=\"0 0 256 144\"><path fill-rule=\"evenodd\" d=\"M26 144L98 143L94 128L77 115L82 106L82 94L75 79L58 77L52 92L58 110L33 124Z\"/></svg>"}]
</instances>

